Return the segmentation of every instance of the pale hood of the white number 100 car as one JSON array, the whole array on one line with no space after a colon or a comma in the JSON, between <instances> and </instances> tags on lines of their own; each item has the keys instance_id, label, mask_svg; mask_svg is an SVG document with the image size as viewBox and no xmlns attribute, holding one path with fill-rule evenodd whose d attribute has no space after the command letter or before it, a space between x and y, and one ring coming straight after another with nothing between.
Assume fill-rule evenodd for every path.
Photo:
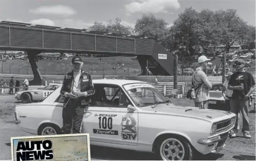
<instances>
[{"instance_id":1,"label":"pale hood of the white number 100 car","mask_svg":"<svg viewBox=\"0 0 256 161\"><path fill-rule=\"evenodd\" d=\"M223 119L230 118L229 115L232 115L230 112L220 111L220 110L211 110L198 107L190 106L177 106L174 104L162 103L156 105L154 108L151 106L140 107L144 112L150 112L153 115L162 115L162 116L177 116L177 117L190 117L194 119L201 119L208 122L217 122Z\"/></svg>"}]
</instances>

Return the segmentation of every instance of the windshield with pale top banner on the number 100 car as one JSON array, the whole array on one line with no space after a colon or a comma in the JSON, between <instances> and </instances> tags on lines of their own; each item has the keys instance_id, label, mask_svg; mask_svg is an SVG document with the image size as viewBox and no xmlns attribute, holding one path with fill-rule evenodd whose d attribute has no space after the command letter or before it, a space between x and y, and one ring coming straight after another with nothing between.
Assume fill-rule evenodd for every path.
<instances>
[{"instance_id":1,"label":"windshield with pale top banner on the number 100 car","mask_svg":"<svg viewBox=\"0 0 256 161\"><path fill-rule=\"evenodd\" d=\"M157 102L168 102L168 100L150 84L129 84L125 85L124 88L128 92L128 95L130 96L131 100L138 107L154 105Z\"/></svg>"}]
</instances>

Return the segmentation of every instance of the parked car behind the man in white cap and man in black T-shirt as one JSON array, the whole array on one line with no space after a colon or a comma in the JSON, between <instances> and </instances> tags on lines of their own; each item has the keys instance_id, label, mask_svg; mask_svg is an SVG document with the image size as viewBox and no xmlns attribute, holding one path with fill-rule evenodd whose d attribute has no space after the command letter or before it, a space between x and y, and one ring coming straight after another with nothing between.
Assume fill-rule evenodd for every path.
<instances>
[{"instance_id":1,"label":"parked car behind the man in white cap and man in black T-shirt","mask_svg":"<svg viewBox=\"0 0 256 161\"><path fill-rule=\"evenodd\" d=\"M223 84L213 84L212 88L209 90L209 109L215 109L215 110L229 110L225 104L225 99L222 95L222 87ZM249 106L252 105L253 102L253 94L249 97Z\"/></svg>"}]
</instances>

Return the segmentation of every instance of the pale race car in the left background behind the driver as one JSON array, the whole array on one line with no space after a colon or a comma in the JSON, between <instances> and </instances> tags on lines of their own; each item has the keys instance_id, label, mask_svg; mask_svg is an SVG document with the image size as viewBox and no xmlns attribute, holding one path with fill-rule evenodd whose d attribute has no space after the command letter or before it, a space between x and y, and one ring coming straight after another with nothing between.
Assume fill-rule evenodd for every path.
<instances>
[{"instance_id":1,"label":"pale race car in the left background behind the driver","mask_svg":"<svg viewBox=\"0 0 256 161\"><path fill-rule=\"evenodd\" d=\"M21 100L22 103L43 101L61 85L62 84L60 83L50 83L43 89L29 89L25 91L18 91L15 94L14 98L16 98L18 101Z\"/></svg>"}]
</instances>

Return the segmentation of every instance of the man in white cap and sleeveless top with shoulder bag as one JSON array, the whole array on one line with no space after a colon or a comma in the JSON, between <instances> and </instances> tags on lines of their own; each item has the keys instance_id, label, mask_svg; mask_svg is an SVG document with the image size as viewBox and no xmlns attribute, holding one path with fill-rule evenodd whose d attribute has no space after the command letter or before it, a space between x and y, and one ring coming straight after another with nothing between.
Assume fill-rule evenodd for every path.
<instances>
[{"instance_id":1,"label":"man in white cap and sleeveless top with shoulder bag","mask_svg":"<svg viewBox=\"0 0 256 161\"><path fill-rule=\"evenodd\" d=\"M195 107L208 108L209 100L209 89L212 88L211 83L208 81L204 69L207 68L208 58L206 56L201 56L198 58L199 67L196 68L195 72L192 74L192 87L195 92Z\"/></svg>"}]
</instances>

